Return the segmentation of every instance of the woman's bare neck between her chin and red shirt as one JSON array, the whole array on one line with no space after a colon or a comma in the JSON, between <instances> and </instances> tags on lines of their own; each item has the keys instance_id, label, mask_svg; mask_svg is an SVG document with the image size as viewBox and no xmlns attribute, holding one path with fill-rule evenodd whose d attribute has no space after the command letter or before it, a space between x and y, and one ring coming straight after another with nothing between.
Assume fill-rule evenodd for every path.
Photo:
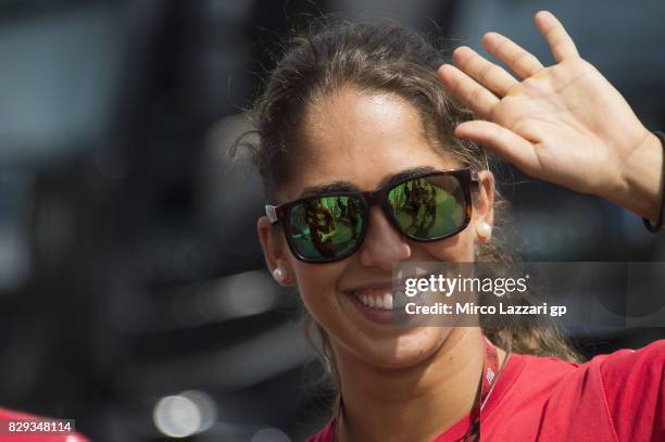
<instances>
[{"instance_id":1,"label":"woman's bare neck between her chin and red shirt","mask_svg":"<svg viewBox=\"0 0 665 442\"><path fill-rule=\"evenodd\" d=\"M428 358L403 369L369 366L336 349L343 397L340 441L431 441L467 415L476 399L485 346L479 328L452 328ZM500 362L504 353L500 351Z\"/></svg>"}]
</instances>

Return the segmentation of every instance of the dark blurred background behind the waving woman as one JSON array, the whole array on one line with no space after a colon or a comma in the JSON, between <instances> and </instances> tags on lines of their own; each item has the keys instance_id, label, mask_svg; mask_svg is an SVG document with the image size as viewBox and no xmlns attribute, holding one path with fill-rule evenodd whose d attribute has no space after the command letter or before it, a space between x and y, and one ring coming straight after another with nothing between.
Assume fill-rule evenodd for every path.
<instances>
[{"instance_id":1,"label":"dark blurred background behind the waving woman","mask_svg":"<svg viewBox=\"0 0 665 442\"><path fill-rule=\"evenodd\" d=\"M551 62L552 10L665 128L661 0L0 0L0 406L95 441L303 441L330 394L299 304L264 268L261 186L228 144L304 14L392 17ZM636 215L502 167L532 261L663 261ZM663 329L578 331L587 356Z\"/></svg>"}]
</instances>

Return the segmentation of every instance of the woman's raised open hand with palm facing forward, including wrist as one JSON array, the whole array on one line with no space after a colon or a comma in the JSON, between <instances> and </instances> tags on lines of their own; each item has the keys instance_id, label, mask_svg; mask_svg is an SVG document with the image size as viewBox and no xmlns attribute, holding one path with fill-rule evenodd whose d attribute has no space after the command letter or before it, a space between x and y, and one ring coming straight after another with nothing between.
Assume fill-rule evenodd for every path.
<instances>
[{"instance_id":1,"label":"woman's raised open hand with palm facing forward, including wrist","mask_svg":"<svg viewBox=\"0 0 665 442\"><path fill-rule=\"evenodd\" d=\"M470 48L453 53L456 65L439 68L443 86L482 121L463 123L455 135L477 141L536 178L605 198L656 219L661 207L663 148L622 94L550 12L536 14L556 64L543 65L495 33L485 49L516 75Z\"/></svg>"}]
</instances>

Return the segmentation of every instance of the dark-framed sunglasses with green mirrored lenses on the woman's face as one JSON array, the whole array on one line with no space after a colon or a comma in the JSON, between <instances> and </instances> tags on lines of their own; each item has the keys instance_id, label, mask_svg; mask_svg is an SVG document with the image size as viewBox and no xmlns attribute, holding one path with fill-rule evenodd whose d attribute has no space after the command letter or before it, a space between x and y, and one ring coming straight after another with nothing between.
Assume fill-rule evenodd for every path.
<instances>
[{"instance_id":1,"label":"dark-framed sunglasses with green mirrored lenses on the woman's face","mask_svg":"<svg viewBox=\"0 0 665 442\"><path fill-rule=\"evenodd\" d=\"M361 248L374 204L413 241L439 241L459 233L470 220L472 185L478 185L478 176L470 168L427 172L375 191L325 192L266 205L265 212L273 225L281 224L297 258L331 263Z\"/></svg>"}]
</instances>

